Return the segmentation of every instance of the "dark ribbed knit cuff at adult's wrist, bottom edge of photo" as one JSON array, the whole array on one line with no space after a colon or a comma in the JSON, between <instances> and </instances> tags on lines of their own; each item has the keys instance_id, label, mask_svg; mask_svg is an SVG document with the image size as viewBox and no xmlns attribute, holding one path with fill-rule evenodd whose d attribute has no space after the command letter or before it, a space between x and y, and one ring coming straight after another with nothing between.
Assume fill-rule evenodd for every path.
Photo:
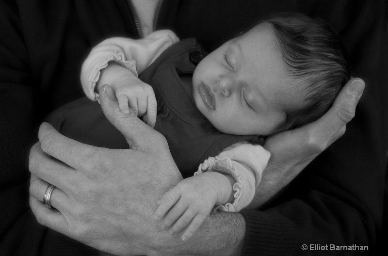
<instances>
[{"instance_id":1,"label":"dark ribbed knit cuff at adult's wrist, bottom edge of photo","mask_svg":"<svg viewBox=\"0 0 388 256\"><path fill-rule=\"evenodd\" d=\"M242 256L293 255L297 235L293 225L275 211L243 209L246 235Z\"/></svg>"}]
</instances>

